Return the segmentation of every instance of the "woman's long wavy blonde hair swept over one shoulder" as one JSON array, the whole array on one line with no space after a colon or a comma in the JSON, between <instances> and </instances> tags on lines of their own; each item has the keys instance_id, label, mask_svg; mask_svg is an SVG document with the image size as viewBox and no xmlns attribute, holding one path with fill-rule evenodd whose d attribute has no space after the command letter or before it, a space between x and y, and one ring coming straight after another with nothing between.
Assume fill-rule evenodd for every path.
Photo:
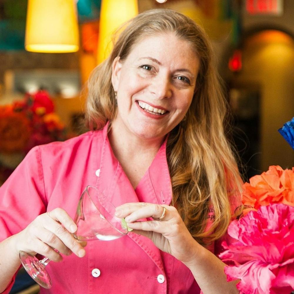
<instances>
[{"instance_id":1,"label":"woman's long wavy blonde hair swept over one shoulder","mask_svg":"<svg viewBox=\"0 0 294 294\"><path fill-rule=\"evenodd\" d=\"M114 58L120 56L120 61L124 61L142 38L164 33L188 41L200 60L196 92L186 117L170 133L167 155L173 203L192 236L204 244L225 233L232 216L229 195L240 190L237 164L224 133L226 100L204 30L170 9L138 14L126 24L109 58L93 70L88 80L86 121L90 129L100 129L116 116L111 84ZM215 219L206 230L212 208Z\"/></svg>"}]
</instances>

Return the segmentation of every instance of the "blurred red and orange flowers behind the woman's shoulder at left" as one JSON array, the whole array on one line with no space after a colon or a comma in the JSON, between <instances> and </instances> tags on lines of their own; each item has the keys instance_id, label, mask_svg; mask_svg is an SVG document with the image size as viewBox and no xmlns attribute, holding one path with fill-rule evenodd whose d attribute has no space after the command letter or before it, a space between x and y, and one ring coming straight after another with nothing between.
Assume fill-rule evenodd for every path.
<instances>
[{"instance_id":1,"label":"blurred red and orange flowers behind the woman's shoulder at left","mask_svg":"<svg viewBox=\"0 0 294 294\"><path fill-rule=\"evenodd\" d=\"M46 91L26 94L22 101L0 108L0 152L27 153L36 145L66 139L64 124L54 113Z\"/></svg>"}]
</instances>

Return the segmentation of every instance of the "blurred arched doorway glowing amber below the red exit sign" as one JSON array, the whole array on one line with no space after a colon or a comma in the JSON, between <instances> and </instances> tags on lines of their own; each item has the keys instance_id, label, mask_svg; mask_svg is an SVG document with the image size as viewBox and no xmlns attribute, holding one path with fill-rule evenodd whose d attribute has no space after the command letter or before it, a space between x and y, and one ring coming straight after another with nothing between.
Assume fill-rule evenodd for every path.
<instances>
[{"instance_id":1,"label":"blurred arched doorway glowing amber below the red exit sign","mask_svg":"<svg viewBox=\"0 0 294 294\"><path fill-rule=\"evenodd\" d=\"M249 142L253 150L247 161L253 171L248 176L270 165L292 168L294 152L277 130L294 116L294 39L280 30L263 29L248 34L239 47L242 69L226 80L237 123L245 123L249 141L256 135Z\"/></svg>"}]
</instances>

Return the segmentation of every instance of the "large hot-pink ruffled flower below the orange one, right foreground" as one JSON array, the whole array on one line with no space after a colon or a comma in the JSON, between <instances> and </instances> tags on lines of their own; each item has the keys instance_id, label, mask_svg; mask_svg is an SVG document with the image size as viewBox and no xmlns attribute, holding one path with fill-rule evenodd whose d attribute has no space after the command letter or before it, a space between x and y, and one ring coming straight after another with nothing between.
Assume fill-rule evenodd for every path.
<instances>
[{"instance_id":1,"label":"large hot-pink ruffled flower below the orange one, right foreground","mask_svg":"<svg viewBox=\"0 0 294 294\"><path fill-rule=\"evenodd\" d=\"M244 294L290 294L294 288L294 207L261 206L228 227L236 242L222 243L227 280Z\"/></svg>"}]
</instances>

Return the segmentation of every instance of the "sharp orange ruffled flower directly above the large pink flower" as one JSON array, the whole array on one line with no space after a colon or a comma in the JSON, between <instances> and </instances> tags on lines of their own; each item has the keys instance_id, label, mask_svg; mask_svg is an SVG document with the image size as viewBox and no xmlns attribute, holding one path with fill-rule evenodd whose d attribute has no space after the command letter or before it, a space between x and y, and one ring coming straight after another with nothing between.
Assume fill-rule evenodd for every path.
<instances>
[{"instance_id":1,"label":"sharp orange ruffled flower directly above the large pink flower","mask_svg":"<svg viewBox=\"0 0 294 294\"><path fill-rule=\"evenodd\" d=\"M244 214L270 203L294 206L294 168L270 166L267 172L253 176L249 182L243 184L242 202L252 208L245 209Z\"/></svg>"}]
</instances>

